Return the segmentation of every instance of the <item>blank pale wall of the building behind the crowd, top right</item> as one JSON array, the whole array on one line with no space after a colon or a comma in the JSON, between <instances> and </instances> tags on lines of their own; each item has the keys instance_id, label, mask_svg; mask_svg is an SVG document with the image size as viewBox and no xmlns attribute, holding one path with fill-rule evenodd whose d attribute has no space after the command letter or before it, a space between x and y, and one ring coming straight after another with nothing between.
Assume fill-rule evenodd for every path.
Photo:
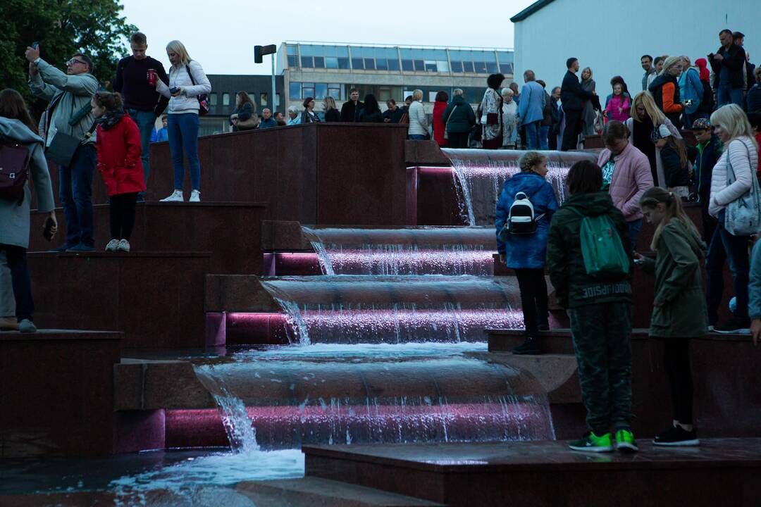
<instances>
[{"instance_id":1,"label":"blank pale wall of the building behind the crowd, top right","mask_svg":"<svg viewBox=\"0 0 761 507\"><path fill-rule=\"evenodd\" d=\"M522 85L531 69L549 91L560 86L565 60L574 56L581 68L592 68L602 100L614 75L636 93L642 90L642 55L688 55L694 62L718 49L724 28L745 33L745 50L758 65L759 22L761 0L555 0L515 24L515 81Z\"/></svg>"}]
</instances>

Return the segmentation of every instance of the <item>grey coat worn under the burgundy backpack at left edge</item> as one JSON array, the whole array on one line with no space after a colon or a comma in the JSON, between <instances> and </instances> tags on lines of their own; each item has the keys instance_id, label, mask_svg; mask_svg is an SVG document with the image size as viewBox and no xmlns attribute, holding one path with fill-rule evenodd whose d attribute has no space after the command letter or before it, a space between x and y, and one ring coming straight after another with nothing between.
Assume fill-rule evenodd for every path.
<instances>
[{"instance_id":1,"label":"grey coat worn under the burgundy backpack at left edge","mask_svg":"<svg viewBox=\"0 0 761 507\"><path fill-rule=\"evenodd\" d=\"M21 206L15 202L0 199L0 244L29 248L29 209L32 199L30 182L37 195L37 210L41 213L53 211L53 186L43 152L43 140L17 119L0 116L0 139L23 144L29 150L29 180L24 186L24 201Z\"/></svg>"}]
</instances>

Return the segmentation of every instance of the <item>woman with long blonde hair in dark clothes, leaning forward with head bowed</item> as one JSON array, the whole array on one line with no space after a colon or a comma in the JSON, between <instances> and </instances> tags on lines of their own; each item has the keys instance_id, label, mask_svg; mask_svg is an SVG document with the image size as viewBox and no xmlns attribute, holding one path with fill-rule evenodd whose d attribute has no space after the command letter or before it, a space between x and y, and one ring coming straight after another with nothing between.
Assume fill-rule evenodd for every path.
<instances>
[{"instance_id":1,"label":"woman with long blonde hair in dark clothes, leaning forward with head bowed","mask_svg":"<svg viewBox=\"0 0 761 507\"><path fill-rule=\"evenodd\" d=\"M629 128L629 132L632 133L629 140L648 157L654 185L665 188L666 176L664 175L661 151L655 146L651 136L654 129L660 125L666 125L674 138L681 139L682 135L673 126L670 119L664 115L663 111L658 109L653 96L648 91L641 91L634 96L631 116L625 123L626 128Z\"/></svg>"}]
</instances>

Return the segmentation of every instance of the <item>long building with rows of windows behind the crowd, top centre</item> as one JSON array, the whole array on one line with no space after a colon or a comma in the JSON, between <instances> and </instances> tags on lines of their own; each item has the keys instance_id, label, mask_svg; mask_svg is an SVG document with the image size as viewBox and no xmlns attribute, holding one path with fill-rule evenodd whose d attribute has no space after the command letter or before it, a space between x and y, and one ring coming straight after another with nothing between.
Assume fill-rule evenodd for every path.
<instances>
[{"instance_id":1,"label":"long building with rows of windows behind the crowd, top centre","mask_svg":"<svg viewBox=\"0 0 761 507\"><path fill-rule=\"evenodd\" d=\"M435 46L386 46L369 44L285 42L277 53L277 71L287 93L286 107L303 109L306 97L314 97L322 110L325 97L333 97L339 108L352 87L372 93L381 109L393 98L403 103L412 90L423 90L427 112L433 109L438 91L452 94L462 88L466 100L480 103L489 74L512 81L511 49L454 48Z\"/></svg>"}]
</instances>

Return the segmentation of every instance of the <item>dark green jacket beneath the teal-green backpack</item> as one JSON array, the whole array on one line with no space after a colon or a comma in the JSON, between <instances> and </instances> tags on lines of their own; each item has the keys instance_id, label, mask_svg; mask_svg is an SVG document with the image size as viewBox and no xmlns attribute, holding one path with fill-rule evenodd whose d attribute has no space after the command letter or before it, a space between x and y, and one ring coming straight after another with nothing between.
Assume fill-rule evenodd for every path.
<instances>
[{"instance_id":1,"label":"dark green jacket beneath the teal-green backpack","mask_svg":"<svg viewBox=\"0 0 761 507\"><path fill-rule=\"evenodd\" d=\"M571 209L573 208L573 209ZM564 308L594 303L631 302L629 275L612 278L591 277L584 268L581 255L581 220L607 214L616 225L624 246L629 242L629 227L621 211L613 206L607 192L572 195L552 216L547 243L547 270L555 287L558 304ZM632 253L629 252L631 257ZM631 273L632 270L629 270Z\"/></svg>"}]
</instances>

